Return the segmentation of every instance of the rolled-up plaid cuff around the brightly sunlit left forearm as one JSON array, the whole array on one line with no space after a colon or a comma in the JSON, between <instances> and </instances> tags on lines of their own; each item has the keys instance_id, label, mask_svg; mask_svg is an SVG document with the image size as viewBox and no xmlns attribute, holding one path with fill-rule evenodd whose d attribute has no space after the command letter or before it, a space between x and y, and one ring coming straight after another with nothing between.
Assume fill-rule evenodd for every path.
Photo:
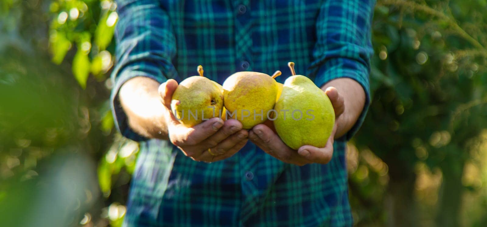
<instances>
[{"instance_id":1,"label":"rolled-up plaid cuff around the brightly sunlit left forearm","mask_svg":"<svg viewBox=\"0 0 487 227\"><path fill-rule=\"evenodd\" d=\"M114 74L116 72L113 72ZM115 128L122 133L123 136L134 140L134 141L145 141L148 138L134 132L127 122L127 115L120 105L120 100L118 98L118 91L122 85L129 79L136 76L145 76L156 80L159 83L164 83L167 77L164 76L161 70L155 64L151 63L134 63L124 67L123 70L119 71L118 75L112 75L114 78L111 104L112 104L112 114L115 122Z\"/></svg>"}]
</instances>

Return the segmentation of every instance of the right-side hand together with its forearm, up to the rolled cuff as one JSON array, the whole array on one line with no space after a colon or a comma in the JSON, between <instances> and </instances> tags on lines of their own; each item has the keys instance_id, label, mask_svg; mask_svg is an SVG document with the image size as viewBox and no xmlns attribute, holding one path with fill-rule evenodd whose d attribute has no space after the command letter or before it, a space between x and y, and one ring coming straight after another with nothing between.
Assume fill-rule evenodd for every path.
<instances>
[{"instance_id":1,"label":"right-side hand together with its forearm, up to the rolled cuff","mask_svg":"<svg viewBox=\"0 0 487 227\"><path fill-rule=\"evenodd\" d=\"M342 95L343 93L338 93L335 87L328 86L336 86L340 91L350 92ZM263 124L252 128L249 132L250 140L266 153L285 163L303 166L309 163L326 164L330 162L333 156L334 139L348 132L355 124L365 103L365 92L356 81L349 78L333 80L324 87L327 87L325 93L330 98L335 110L333 132L324 148L305 145L300 147L298 151L293 150L284 144L279 135L271 128Z\"/></svg>"}]
</instances>

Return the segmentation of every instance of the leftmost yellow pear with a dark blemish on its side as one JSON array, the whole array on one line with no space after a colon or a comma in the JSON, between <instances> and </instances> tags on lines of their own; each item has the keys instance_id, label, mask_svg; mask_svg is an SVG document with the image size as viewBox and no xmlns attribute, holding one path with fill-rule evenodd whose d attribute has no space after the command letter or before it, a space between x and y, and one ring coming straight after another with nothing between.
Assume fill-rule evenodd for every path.
<instances>
[{"instance_id":1,"label":"leftmost yellow pear with a dark blemish on its side","mask_svg":"<svg viewBox=\"0 0 487 227\"><path fill-rule=\"evenodd\" d=\"M204 77L201 65L198 74L181 81L172 95L171 111L186 127L220 116L223 108L222 86Z\"/></svg>"}]
</instances>

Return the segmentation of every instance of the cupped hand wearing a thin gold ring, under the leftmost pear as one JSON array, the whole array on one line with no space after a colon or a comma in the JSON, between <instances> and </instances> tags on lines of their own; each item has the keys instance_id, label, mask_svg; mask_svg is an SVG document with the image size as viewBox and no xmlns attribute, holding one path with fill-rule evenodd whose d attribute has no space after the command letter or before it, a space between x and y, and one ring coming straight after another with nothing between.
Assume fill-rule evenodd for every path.
<instances>
[{"instance_id":1,"label":"cupped hand wearing a thin gold ring, under the leftmost pear","mask_svg":"<svg viewBox=\"0 0 487 227\"><path fill-rule=\"evenodd\" d=\"M171 97L178 83L169 79L159 86L162 103L169 110L165 117L169 140L183 153L196 161L216 162L231 157L247 142L248 132L235 119L225 122L214 117L191 128L183 126L171 113Z\"/></svg>"}]
</instances>

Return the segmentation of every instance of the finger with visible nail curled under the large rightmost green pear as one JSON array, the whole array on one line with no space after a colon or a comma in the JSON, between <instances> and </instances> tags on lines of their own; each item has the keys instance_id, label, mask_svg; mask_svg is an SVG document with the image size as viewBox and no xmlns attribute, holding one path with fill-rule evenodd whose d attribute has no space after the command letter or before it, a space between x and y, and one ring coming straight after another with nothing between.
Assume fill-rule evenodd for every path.
<instances>
[{"instance_id":1,"label":"finger with visible nail curled under the large rightmost green pear","mask_svg":"<svg viewBox=\"0 0 487 227\"><path fill-rule=\"evenodd\" d=\"M334 135L337 131L337 125L334 126L333 132L326 141L326 145L324 148L317 148L310 145L305 145L300 147L298 153L306 158L307 160L320 163L320 164L327 164L331 161L333 157L333 142L334 142Z\"/></svg>"}]
</instances>

